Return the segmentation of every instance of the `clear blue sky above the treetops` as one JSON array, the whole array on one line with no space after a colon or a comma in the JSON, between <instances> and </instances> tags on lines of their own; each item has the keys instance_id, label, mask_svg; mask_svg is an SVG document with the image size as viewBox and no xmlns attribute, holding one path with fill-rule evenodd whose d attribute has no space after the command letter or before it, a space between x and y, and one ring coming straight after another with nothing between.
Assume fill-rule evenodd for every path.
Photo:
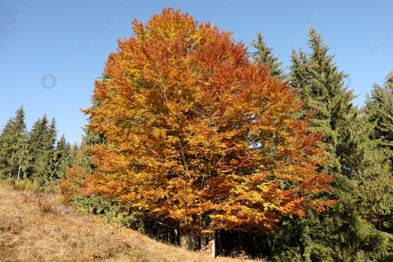
<instances>
[{"instance_id":1,"label":"clear blue sky above the treetops","mask_svg":"<svg viewBox=\"0 0 393 262\"><path fill-rule=\"evenodd\" d=\"M29 128L46 113L57 120L59 135L80 142L86 120L79 108L90 107L93 81L116 51L116 39L132 34L134 18L147 21L165 6L180 7L198 21L213 17L247 43L257 31L270 47L286 42L279 57L285 66L290 46L306 48L308 27L315 26L337 53L339 69L351 74L350 89L360 94L355 104L362 105L373 82L382 83L393 70L392 1L0 0L0 125L24 104ZM101 26L107 28L98 35Z\"/></svg>"}]
</instances>

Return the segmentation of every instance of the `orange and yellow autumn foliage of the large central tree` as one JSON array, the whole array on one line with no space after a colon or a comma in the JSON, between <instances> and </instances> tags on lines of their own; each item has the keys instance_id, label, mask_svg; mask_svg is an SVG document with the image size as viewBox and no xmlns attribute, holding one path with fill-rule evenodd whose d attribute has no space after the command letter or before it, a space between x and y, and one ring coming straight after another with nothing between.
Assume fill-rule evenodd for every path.
<instances>
[{"instance_id":1,"label":"orange and yellow autumn foliage of the large central tree","mask_svg":"<svg viewBox=\"0 0 393 262\"><path fill-rule=\"evenodd\" d=\"M95 81L99 106L83 110L107 139L86 150L97 166L86 194L199 233L270 228L333 203L313 197L332 178L318 172L327 157L311 113L294 117L302 103L241 41L171 8L132 24Z\"/></svg>"}]
</instances>

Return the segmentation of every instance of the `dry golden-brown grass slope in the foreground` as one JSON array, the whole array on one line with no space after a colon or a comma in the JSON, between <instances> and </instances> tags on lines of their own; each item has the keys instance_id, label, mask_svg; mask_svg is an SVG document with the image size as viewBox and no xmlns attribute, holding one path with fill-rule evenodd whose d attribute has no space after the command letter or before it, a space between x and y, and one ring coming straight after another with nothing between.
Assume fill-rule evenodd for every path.
<instances>
[{"instance_id":1,"label":"dry golden-brown grass slope in the foreground","mask_svg":"<svg viewBox=\"0 0 393 262\"><path fill-rule=\"evenodd\" d=\"M49 196L0 183L0 262L145 261L241 262L163 244L116 224L75 216Z\"/></svg>"}]
</instances>

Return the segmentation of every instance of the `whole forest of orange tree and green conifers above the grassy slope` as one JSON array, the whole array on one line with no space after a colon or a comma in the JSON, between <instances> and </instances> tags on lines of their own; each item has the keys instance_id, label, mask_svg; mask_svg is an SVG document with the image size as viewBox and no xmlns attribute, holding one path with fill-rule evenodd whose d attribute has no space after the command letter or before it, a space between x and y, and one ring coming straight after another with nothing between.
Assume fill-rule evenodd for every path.
<instances>
[{"instance_id":1,"label":"whole forest of orange tree and green conifers above the grassy slope","mask_svg":"<svg viewBox=\"0 0 393 262\"><path fill-rule=\"evenodd\" d=\"M22 105L2 180L213 256L393 261L393 71L355 106L315 27L286 70L261 32L247 44L173 8L132 25L82 143L46 114L28 130Z\"/></svg>"}]
</instances>

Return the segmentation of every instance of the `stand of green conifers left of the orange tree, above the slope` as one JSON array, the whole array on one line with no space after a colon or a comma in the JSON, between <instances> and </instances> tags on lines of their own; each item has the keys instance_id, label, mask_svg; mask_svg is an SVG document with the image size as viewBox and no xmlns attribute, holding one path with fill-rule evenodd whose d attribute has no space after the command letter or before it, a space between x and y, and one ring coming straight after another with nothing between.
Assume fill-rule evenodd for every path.
<instances>
[{"instance_id":1,"label":"stand of green conifers left of the orange tree, above the slope","mask_svg":"<svg viewBox=\"0 0 393 262\"><path fill-rule=\"evenodd\" d=\"M56 120L39 118L30 132L24 123L23 105L0 134L0 173L17 181L32 178L40 185L48 178L66 178L67 168L76 160L78 145L66 142L64 134L56 140ZM57 146L55 144L57 142Z\"/></svg>"}]
</instances>

